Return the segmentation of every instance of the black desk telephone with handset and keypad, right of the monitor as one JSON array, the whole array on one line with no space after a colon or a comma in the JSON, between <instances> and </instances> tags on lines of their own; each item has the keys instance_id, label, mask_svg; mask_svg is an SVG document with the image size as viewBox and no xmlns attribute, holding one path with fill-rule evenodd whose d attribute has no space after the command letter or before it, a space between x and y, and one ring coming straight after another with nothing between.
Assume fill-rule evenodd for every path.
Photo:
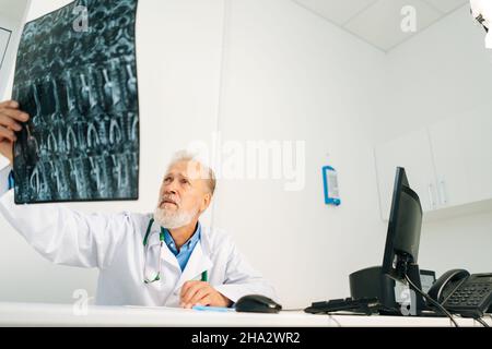
<instances>
[{"instance_id":1,"label":"black desk telephone with handset and keypad, right of the monitor","mask_svg":"<svg viewBox=\"0 0 492 349\"><path fill-rule=\"evenodd\" d=\"M492 312L492 273L470 275L465 269L448 270L432 285L427 294L450 313L482 317Z\"/></svg>"}]
</instances>

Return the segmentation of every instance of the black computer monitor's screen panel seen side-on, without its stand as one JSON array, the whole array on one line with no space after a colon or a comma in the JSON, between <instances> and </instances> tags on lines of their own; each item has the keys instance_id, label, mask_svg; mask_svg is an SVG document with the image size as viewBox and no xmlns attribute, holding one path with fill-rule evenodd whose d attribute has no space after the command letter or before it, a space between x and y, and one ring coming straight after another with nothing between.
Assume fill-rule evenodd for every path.
<instances>
[{"instance_id":1,"label":"black computer monitor's screen panel seen side-on, without its stand","mask_svg":"<svg viewBox=\"0 0 492 349\"><path fill-rule=\"evenodd\" d=\"M419 195L410 188L405 168L398 167L382 267L384 274L405 281L406 275L410 274L409 267L417 266L421 227L422 206ZM417 274L411 279L414 277L420 276ZM414 281L420 285L419 280Z\"/></svg>"}]
</instances>

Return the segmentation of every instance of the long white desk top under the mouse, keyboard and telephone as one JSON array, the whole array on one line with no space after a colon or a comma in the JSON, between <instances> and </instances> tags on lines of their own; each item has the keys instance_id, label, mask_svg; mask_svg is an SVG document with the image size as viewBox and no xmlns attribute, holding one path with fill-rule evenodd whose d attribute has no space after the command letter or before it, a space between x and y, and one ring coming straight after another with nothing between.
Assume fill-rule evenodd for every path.
<instances>
[{"instance_id":1,"label":"long white desk top under the mouse, keyboard and telephone","mask_svg":"<svg viewBox=\"0 0 492 349\"><path fill-rule=\"evenodd\" d=\"M460 326L481 326L456 318ZM491 318L485 318L492 326ZM406 316L219 313L169 308L89 306L75 315L71 304L2 303L0 326L187 326L187 327L337 327L337 326L450 326L448 318Z\"/></svg>"}]
</instances>

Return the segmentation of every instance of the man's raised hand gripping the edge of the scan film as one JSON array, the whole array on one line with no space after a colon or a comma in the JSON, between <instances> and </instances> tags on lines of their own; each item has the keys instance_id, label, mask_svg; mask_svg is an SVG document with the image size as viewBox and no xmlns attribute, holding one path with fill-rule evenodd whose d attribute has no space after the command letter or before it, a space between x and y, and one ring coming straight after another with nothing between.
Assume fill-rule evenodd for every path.
<instances>
[{"instance_id":1,"label":"man's raised hand gripping the edge of the scan film","mask_svg":"<svg viewBox=\"0 0 492 349\"><path fill-rule=\"evenodd\" d=\"M0 103L0 154L10 163L13 160L12 144L16 141L15 131L21 131L21 122L26 122L30 116L19 110L19 103L5 100Z\"/></svg>"}]
</instances>

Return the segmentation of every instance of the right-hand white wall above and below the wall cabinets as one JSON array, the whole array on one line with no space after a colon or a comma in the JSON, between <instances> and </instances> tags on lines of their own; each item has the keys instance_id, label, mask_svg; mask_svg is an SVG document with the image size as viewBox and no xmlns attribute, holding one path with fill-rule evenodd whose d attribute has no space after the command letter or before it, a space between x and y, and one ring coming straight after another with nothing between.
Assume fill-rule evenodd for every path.
<instances>
[{"instance_id":1,"label":"right-hand white wall above and below the wall cabinets","mask_svg":"<svg viewBox=\"0 0 492 349\"><path fill-rule=\"evenodd\" d=\"M484 48L483 38L465 5L390 51L388 105L377 137L393 139L443 118L466 117L475 108L491 111L492 51ZM425 222L419 264L437 274L454 267L490 272L491 227L492 215L483 213Z\"/></svg>"}]
</instances>

